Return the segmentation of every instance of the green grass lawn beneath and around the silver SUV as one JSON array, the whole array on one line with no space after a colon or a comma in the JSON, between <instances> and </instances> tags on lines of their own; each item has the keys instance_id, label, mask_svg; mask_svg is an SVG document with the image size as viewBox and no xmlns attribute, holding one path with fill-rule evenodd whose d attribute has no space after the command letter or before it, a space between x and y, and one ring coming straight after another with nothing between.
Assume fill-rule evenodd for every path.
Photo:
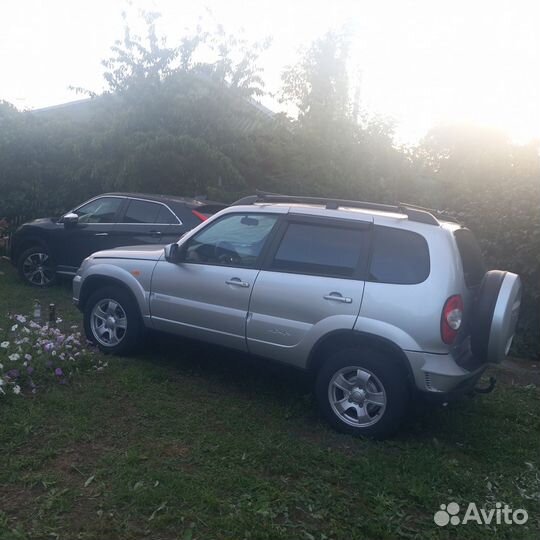
<instances>
[{"instance_id":1,"label":"green grass lawn beneath and around the silver SUV","mask_svg":"<svg viewBox=\"0 0 540 540\"><path fill-rule=\"evenodd\" d=\"M0 327L34 298L80 323L68 285L36 291L0 270ZM531 385L426 408L373 442L327 428L301 375L234 352L159 337L108 360L0 399L0 538L538 537ZM530 517L439 528L433 514L450 501Z\"/></svg>"}]
</instances>

